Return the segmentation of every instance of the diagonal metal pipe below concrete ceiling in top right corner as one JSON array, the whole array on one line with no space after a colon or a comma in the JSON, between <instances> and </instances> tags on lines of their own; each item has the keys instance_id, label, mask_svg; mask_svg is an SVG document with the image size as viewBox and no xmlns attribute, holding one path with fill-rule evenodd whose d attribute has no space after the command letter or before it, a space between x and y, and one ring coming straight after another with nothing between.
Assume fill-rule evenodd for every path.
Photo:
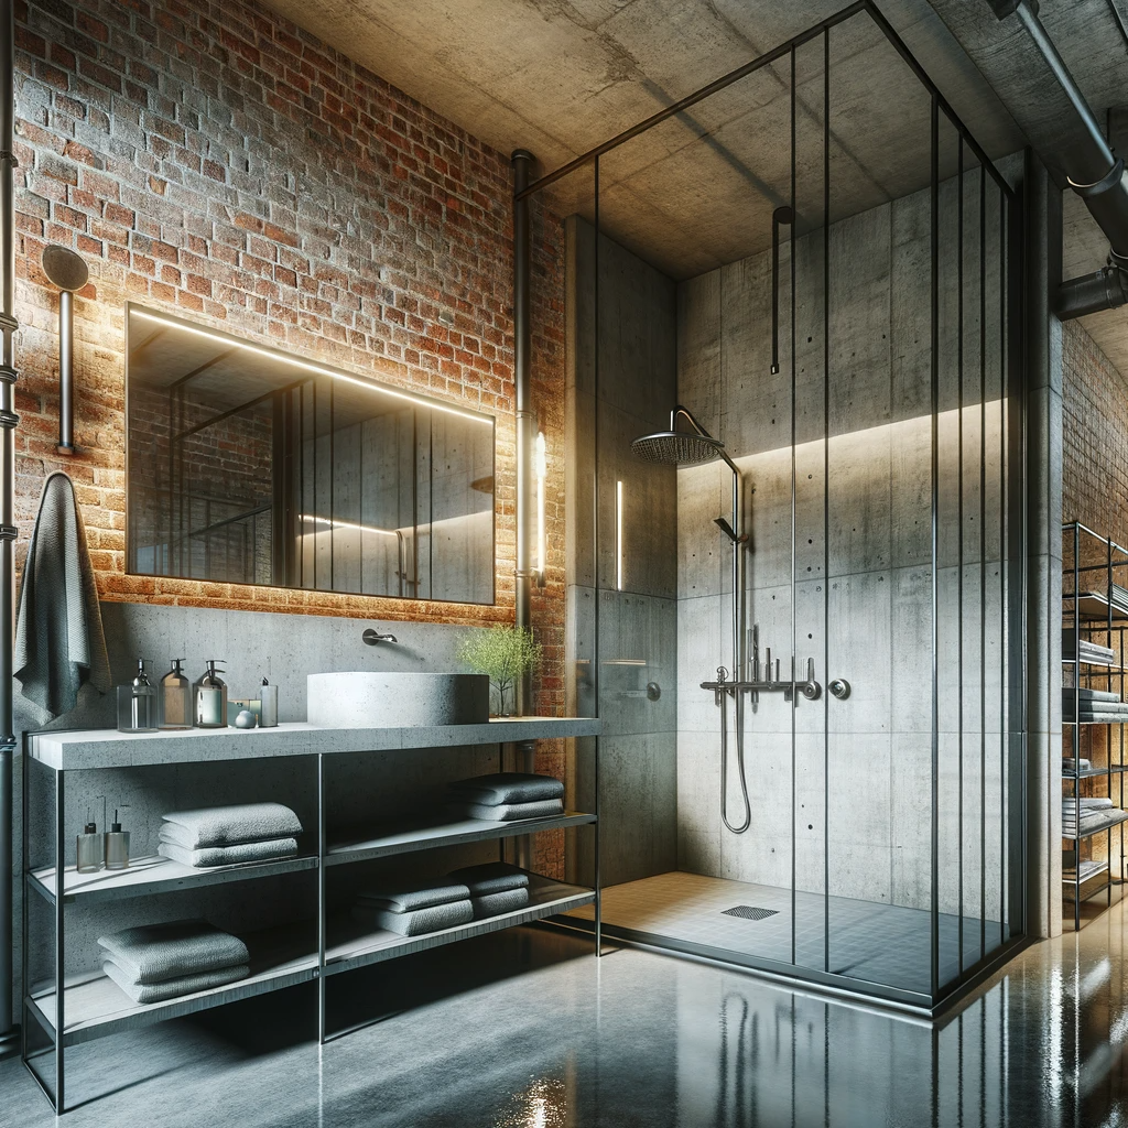
<instances>
[{"instance_id":1,"label":"diagonal metal pipe below concrete ceiling in top right corner","mask_svg":"<svg viewBox=\"0 0 1128 1128\"><path fill-rule=\"evenodd\" d=\"M1014 15L1046 60L1077 117L1077 143L1072 148L1064 171L1069 186L1085 201L1093 219L1110 244L1109 257L1114 265L1128 267L1128 171L1104 138L1101 123L1085 100L1065 60L1058 53L1038 18L1036 0L987 0L999 19ZM1042 153L1055 160L1054 153Z\"/></svg>"}]
</instances>

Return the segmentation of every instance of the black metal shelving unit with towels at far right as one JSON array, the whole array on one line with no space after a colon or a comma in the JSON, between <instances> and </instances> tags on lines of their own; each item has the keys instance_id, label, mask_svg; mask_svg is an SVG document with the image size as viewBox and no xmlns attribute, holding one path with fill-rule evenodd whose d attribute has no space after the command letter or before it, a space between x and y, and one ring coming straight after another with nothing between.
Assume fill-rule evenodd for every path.
<instances>
[{"instance_id":1,"label":"black metal shelving unit with towels at far right","mask_svg":"<svg viewBox=\"0 0 1128 1128\"><path fill-rule=\"evenodd\" d=\"M1128 820L1128 811L1123 810L1123 776L1128 770L1128 760L1125 756L1125 725L1128 724L1128 715L1118 720L1112 717L1081 720L1081 690L1086 688L1111 690L1123 700L1125 627L1128 626L1128 602L1123 601L1121 592L1118 591L1117 580L1128 578L1128 549L1077 521L1063 526L1063 559L1066 565L1061 591L1065 632L1061 664L1063 671L1072 671L1073 681L1072 686L1063 686L1063 712L1066 714L1069 713L1067 707L1069 691L1073 691L1072 719L1064 716L1061 721L1064 758L1070 758L1074 764L1079 764L1084 744L1089 746L1089 751L1092 754L1099 744L1098 733L1103 733L1100 743L1103 744L1101 752L1104 759L1102 765L1081 770L1063 766L1061 779L1067 788L1063 791L1063 805L1074 800L1079 808L1079 800L1084 797L1083 781L1102 779L1103 797L1111 799L1116 804L1105 818L1086 830L1081 829L1078 809L1077 832L1061 836L1063 843L1068 844L1063 860L1063 901L1073 902L1074 931L1079 931L1082 904L1103 892L1107 893L1108 905L1111 906L1113 887L1123 883L1123 825ZM1083 659L1082 644L1086 640L1112 650L1113 656L1110 659L1107 655L1090 655ZM1070 641L1073 653L1067 654L1065 650ZM1100 713L1100 708L1098 707L1095 712ZM1119 828L1117 845L1120 863L1117 872L1113 872L1112 847L1113 832L1117 828ZM1082 858L1082 851L1085 848L1092 851L1094 839L1101 835L1104 836L1104 858Z\"/></svg>"}]
</instances>

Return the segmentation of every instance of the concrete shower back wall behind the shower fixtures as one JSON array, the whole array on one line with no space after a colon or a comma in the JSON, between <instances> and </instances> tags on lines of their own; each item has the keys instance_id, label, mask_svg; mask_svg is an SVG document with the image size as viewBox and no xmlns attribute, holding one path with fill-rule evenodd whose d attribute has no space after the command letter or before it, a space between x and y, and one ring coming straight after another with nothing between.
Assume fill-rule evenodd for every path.
<instances>
[{"instance_id":1,"label":"concrete shower back wall behind the shower fixtures","mask_svg":"<svg viewBox=\"0 0 1128 1128\"><path fill-rule=\"evenodd\" d=\"M968 214L972 214L972 202L977 214L978 182L966 191ZM955 862L962 857L964 911L979 914L982 876L986 916L999 919L1001 843L1006 834L998 737L1004 646L998 563L999 328L992 312L997 308L994 298L986 323L986 391L980 395L976 236L973 250L964 259L961 394L957 256L950 237L957 201L954 186L944 185L942 224L951 222L952 231L942 235L941 414L936 424L943 860L938 880L942 911L955 911L960 904ZM997 230L997 217L989 214L994 246L998 246ZM698 682L712 678L717 666L732 666L731 556L728 541L712 523L717 515L729 517L731 476L721 462L680 468L678 863L682 870L714 876L781 887L790 887L794 879L800 889L829 888L832 895L924 908L932 896L928 194L895 201L831 228L827 421L822 238L821 230L802 236L796 249L794 415L788 245L782 248L781 372L772 376L769 371L772 263L767 253L679 285L678 393L710 431L725 441L746 475L751 530L748 623L759 624L761 656L763 647L770 646L783 660L786 677L793 651L801 663L800 676L811 655L823 686L829 678L846 678L853 694L846 702L802 700L794 711L794 738L791 705L779 694L760 697L747 719L751 829L739 837L723 829L720 719L712 694L699 689ZM996 263L988 262L987 284L988 296L997 294ZM980 404L985 404L982 409ZM987 514L982 567L981 434ZM825 449L829 457L826 485ZM825 518L829 543L825 543ZM827 584L829 592L823 590ZM982 655L981 598L988 625ZM823 659L828 632L829 669ZM958 681L961 647L962 686ZM734 763L731 744L730 755ZM731 769L728 803L732 819L742 814L735 775ZM980 802L981 788L986 805ZM980 855L984 828L985 858Z\"/></svg>"}]
</instances>

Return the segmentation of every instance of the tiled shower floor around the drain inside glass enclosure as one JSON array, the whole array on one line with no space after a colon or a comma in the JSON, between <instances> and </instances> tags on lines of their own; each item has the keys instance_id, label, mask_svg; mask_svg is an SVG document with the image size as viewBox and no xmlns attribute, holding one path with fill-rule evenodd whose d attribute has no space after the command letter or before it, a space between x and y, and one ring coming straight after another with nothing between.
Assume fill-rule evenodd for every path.
<instances>
[{"instance_id":1,"label":"tiled shower floor around the drain inside glass enclosure","mask_svg":"<svg viewBox=\"0 0 1128 1128\"><path fill-rule=\"evenodd\" d=\"M795 893L795 959L822 968L826 900ZM774 909L759 920L728 914L746 906ZM603 890L603 922L671 940L791 962L791 890L724 881L696 873L662 873ZM831 897L830 970L872 982L927 993L931 982L931 915L924 909ZM576 916L591 918L587 906ZM963 920L963 966L979 959L978 917ZM959 920L941 914L941 982L959 973ZM999 945L999 925L988 920L986 949Z\"/></svg>"}]
</instances>

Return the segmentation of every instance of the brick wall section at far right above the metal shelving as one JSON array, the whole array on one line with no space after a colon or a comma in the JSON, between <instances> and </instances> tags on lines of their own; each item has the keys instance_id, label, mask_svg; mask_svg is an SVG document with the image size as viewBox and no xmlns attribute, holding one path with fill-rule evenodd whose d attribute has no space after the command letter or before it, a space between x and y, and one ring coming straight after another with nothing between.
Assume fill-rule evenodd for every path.
<instances>
[{"instance_id":1,"label":"brick wall section at far right above the metal shelving","mask_svg":"<svg viewBox=\"0 0 1128 1128\"><path fill-rule=\"evenodd\" d=\"M1079 321L1061 350L1061 518L1128 545L1128 380Z\"/></svg>"}]
</instances>

